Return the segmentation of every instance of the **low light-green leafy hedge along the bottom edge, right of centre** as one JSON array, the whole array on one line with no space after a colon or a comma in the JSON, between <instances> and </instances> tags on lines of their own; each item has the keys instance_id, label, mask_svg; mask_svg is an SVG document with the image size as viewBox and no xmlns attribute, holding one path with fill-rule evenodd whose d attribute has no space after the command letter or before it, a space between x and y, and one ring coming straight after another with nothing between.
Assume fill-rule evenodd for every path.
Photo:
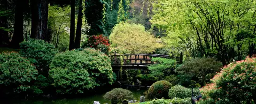
<instances>
[{"instance_id":1,"label":"low light-green leafy hedge along the bottom edge, right of centre","mask_svg":"<svg viewBox=\"0 0 256 104\"><path fill-rule=\"evenodd\" d=\"M191 98L185 99L173 98L173 99L154 99L149 101L147 104L192 104Z\"/></svg>"}]
</instances>

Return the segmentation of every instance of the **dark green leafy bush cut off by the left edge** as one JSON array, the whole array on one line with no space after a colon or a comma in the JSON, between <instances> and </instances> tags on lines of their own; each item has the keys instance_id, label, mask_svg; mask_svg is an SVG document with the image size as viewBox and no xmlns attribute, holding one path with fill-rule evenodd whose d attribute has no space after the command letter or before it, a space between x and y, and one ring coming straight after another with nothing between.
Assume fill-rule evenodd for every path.
<instances>
[{"instance_id":1,"label":"dark green leafy bush cut off by the left edge","mask_svg":"<svg viewBox=\"0 0 256 104\"><path fill-rule=\"evenodd\" d=\"M36 80L38 71L19 53L0 54L0 84L16 93L31 88L30 82Z\"/></svg>"}]
</instances>

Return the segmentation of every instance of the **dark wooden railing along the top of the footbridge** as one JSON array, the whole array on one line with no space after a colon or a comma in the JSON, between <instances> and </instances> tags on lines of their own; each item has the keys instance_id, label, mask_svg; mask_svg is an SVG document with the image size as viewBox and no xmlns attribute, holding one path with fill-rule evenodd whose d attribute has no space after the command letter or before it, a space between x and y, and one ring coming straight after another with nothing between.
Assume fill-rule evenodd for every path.
<instances>
[{"instance_id":1,"label":"dark wooden railing along the top of the footbridge","mask_svg":"<svg viewBox=\"0 0 256 104\"><path fill-rule=\"evenodd\" d=\"M182 56L182 53L181 53ZM151 60L153 57L167 58L167 59L176 59L178 63L182 63L182 58L172 57L169 55L159 55L159 54L119 54L119 55L110 55L111 65L112 66L123 66L123 65L143 65L148 66L154 64Z\"/></svg>"}]
</instances>

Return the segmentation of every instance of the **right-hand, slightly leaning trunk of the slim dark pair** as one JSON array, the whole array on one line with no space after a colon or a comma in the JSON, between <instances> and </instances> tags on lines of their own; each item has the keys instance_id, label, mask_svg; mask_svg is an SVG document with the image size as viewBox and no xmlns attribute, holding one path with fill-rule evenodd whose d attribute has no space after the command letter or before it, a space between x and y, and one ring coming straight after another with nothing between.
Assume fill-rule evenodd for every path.
<instances>
[{"instance_id":1,"label":"right-hand, slightly leaning trunk of the slim dark pair","mask_svg":"<svg viewBox=\"0 0 256 104\"><path fill-rule=\"evenodd\" d=\"M82 0L79 0L78 24L77 24L75 48L80 48L80 44L81 44L81 32L82 32L82 22L83 22L82 10L83 10Z\"/></svg>"}]
</instances>

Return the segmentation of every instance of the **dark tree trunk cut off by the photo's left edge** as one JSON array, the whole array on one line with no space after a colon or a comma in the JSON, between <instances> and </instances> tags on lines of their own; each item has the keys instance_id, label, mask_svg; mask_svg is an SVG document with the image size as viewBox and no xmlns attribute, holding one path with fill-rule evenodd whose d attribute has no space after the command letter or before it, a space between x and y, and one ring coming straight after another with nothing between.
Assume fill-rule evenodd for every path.
<instances>
[{"instance_id":1,"label":"dark tree trunk cut off by the photo's left edge","mask_svg":"<svg viewBox=\"0 0 256 104\"><path fill-rule=\"evenodd\" d=\"M0 2L1 11L7 11L7 0ZM7 15L0 15L0 28L8 29L8 18ZM8 37L8 31L0 29L0 46L8 45L10 43Z\"/></svg>"}]
</instances>

